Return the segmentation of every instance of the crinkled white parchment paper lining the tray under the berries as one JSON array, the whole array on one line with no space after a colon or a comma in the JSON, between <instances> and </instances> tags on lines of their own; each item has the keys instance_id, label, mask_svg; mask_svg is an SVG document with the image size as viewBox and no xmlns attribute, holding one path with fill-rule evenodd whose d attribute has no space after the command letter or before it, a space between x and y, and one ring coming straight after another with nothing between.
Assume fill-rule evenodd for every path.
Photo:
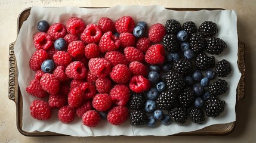
<instances>
[{"instance_id":1,"label":"crinkled white parchment paper lining the tray under the berries","mask_svg":"<svg viewBox=\"0 0 256 143\"><path fill-rule=\"evenodd\" d=\"M101 120L100 124L95 128L87 128L82 125L81 119L76 117L75 121L70 124L61 123L57 119L57 110L53 111L52 118L48 121L35 120L30 116L30 102L36 98L28 95L26 86L33 79L34 71L29 69L29 58L35 52L33 46L33 36L38 32L37 23L40 20L47 20L50 24L61 22L66 24L70 17L82 18L86 24L97 24L100 17L109 17L113 21L123 15L130 15L135 22L146 21L149 27L155 23L165 24L167 19L174 18L183 24L186 21L194 21L199 27L203 21L211 20L218 24L219 32L217 37L223 39L227 43L227 49L221 55L215 56L215 61L226 59L232 64L232 74L225 78L229 83L229 91L224 95L220 95L221 100L226 101L224 113L219 117L206 117L205 123L198 125L192 123L190 119L184 125L158 125L156 128L149 129L147 126L141 128L129 125L129 120L121 126L113 126L106 120ZM14 48L18 66L18 85L23 95L23 119L22 129L26 132L38 130L39 132L51 131L72 136L116 136L116 135L155 135L166 136L179 132L189 132L202 129L209 125L230 123L236 120L235 104L236 104L236 87L240 79L240 73L237 66L238 60L238 35L236 29L236 12L233 10L215 10L215 11L172 11L166 10L164 7L153 6L116 6L112 8L78 8L78 7L57 7L44 8L32 7L29 18L23 23L17 42ZM47 99L45 99L47 100ZM160 124L160 123L159 123Z\"/></svg>"}]
</instances>

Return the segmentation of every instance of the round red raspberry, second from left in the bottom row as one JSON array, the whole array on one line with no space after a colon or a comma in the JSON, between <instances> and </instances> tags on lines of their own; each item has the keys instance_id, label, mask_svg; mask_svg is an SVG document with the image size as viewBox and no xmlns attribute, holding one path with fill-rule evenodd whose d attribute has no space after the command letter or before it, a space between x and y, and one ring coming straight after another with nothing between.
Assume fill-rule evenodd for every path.
<instances>
[{"instance_id":1,"label":"round red raspberry, second from left in the bottom row","mask_svg":"<svg viewBox=\"0 0 256 143\"><path fill-rule=\"evenodd\" d=\"M70 123L75 119L76 111L74 108L69 107L68 105L61 107L58 110L58 120L63 123Z\"/></svg>"}]
</instances>

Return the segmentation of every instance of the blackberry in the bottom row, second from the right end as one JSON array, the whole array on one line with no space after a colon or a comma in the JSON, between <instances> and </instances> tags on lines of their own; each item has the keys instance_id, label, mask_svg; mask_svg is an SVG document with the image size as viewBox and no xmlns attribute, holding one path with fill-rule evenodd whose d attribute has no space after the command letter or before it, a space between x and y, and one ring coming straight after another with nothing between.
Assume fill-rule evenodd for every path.
<instances>
[{"instance_id":1,"label":"blackberry in the bottom row, second from the right end","mask_svg":"<svg viewBox=\"0 0 256 143\"><path fill-rule=\"evenodd\" d=\"M193 107L189 111L189 117L194 123L203 123L205 121L205 114L201 108Z\"/></svg>"}]
</instances>

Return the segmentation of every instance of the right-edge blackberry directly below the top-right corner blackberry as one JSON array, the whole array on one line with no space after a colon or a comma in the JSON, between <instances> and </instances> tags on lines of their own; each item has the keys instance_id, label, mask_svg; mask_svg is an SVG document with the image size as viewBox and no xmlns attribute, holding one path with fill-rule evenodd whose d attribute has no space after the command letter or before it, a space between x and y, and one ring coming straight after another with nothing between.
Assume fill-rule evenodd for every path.
<instances>
[{"instance_id":1,"label":"right-edge blackberry directly below the top-right corner blackberry","mask_svg":"<svg viewBox=\"0 0 256 143\"><path fill-rule=\"evenodd\" d=\"M226 43L220 38L209 38L206 42L206 52L212 55L219 55L227 48Z\"/></svg>"}]
</instances>

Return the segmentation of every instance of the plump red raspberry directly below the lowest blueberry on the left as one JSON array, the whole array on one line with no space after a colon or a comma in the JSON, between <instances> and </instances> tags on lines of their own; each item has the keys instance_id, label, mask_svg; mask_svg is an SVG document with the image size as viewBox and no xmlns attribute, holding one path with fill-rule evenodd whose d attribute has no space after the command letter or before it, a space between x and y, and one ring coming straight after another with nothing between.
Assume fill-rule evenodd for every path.
<instances>
[{"instance_id":1,"label":"plump red raspberry directly below the lowest blueberry on the left","mask_svg":"<svg viewBox=\"0 0 256 143\"><path fill-rule=\"evenodd\" d=\"M45 73L40 80L42 88L49 94L57 94L60 91L60 82L53 74Z\"/></svg>"}]
</instances>

